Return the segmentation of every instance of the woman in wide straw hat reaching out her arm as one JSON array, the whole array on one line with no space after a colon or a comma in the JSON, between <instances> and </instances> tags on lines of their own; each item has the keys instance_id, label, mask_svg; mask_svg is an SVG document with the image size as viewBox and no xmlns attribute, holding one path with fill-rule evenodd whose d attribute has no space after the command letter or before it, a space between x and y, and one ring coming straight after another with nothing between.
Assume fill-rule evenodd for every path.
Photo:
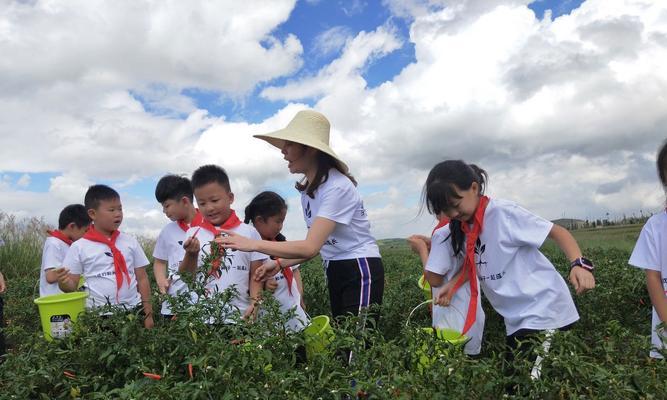
<instances>
[{"instance_id":1,"label":"woman in wide straw hat reaching out her arm","mask_svg":"<svg viewBox=\"0 0 667 400\"><path fill-rule=\"evenodd\" d=\"M271 242L234 234L222 238L225 247L258 251L278 257L265 264L255 279L266 279L281 268L303 262L319 252L325 266L331 314L357 315L382 303L384 268L363 201L347 165L329 147L329 121L304 110L286 128L255 135L281 149L292 174L303 174L301 192L308 227L304 240Z\"/></svg>"}]
</instances>

